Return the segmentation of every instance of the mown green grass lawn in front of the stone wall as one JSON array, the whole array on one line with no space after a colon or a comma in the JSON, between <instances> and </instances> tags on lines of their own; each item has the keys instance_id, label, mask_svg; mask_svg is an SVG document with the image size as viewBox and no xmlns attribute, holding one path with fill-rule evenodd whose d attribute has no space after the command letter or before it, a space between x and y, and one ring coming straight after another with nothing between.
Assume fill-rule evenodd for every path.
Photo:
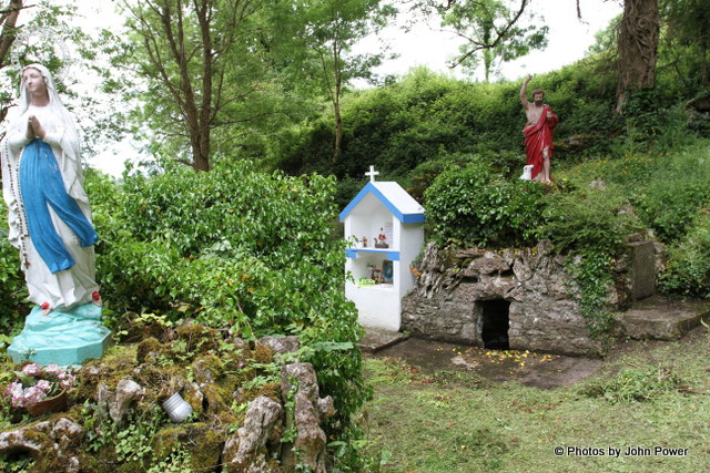
<instances>
[{"instance_id":1,"label":"mown green grass lawn in front of the stone wall","mask_svg":"<svg viewBox=\"0 0 710 473\"><path fill-rule=\"evenodd\" d=\"M387 472L710 471L709 353L703 328L623 341L592 376L554 390L368 358L367 454Z\"/></svg>"}]
</instances>

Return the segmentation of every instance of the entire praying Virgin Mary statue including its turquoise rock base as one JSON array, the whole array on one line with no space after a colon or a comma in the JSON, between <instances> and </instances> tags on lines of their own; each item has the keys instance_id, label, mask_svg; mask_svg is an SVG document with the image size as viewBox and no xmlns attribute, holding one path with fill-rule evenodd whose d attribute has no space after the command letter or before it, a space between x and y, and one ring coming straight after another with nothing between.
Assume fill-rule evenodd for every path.
<instances>
[{"instance_id":1,"label":"entire praying Virgin Mary statue including its turquoise rock base","mask_svg":"<svg viewBox=\"0 0 710 473\"><path fill-rule=\"evenodd\" d=\"M101 358L101 325L89 200L82 187L79 134L50 72L22 70L20 103L0 142L10 243L20 250L37 304L8 352L16 362L78 364Z\"/></svg>"}]
</instances>

